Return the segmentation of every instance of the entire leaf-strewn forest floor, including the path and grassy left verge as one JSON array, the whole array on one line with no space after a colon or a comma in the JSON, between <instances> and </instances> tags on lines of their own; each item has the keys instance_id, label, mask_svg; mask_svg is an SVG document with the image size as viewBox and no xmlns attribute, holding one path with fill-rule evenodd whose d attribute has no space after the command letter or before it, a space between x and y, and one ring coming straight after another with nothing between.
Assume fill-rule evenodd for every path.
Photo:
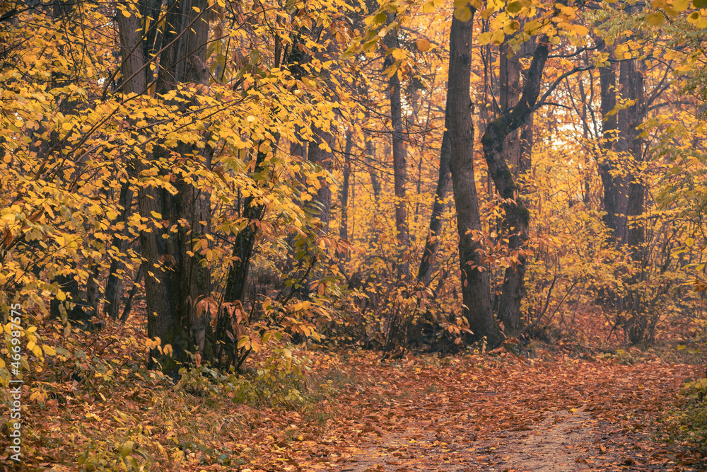
<instances>
[{"instance_id":1,"label":"entire leaf-strewn forest floor, including the path and grassy left verge","mask_svg":"<svg viewBox=\"0 0 707 472\"><path fill-rule=\"evenodd\" d=\"M84 347L86 357L100 351L136 366L144 356L136 347L141 327L111 329L90 350ZM532 343L525 355L502 348L448 357L408 353L382 361L378 352L303 351L298 355L308 370L306 381L283 381L281 393L250 405L175 386L137 367L123 369L124 376L110 383L105 376L56 376L78 365L67 358L35 374L30 390L41 395L25 402L30 426L24 466L705 470L699 444L674 440L671 418L680 408L684 382L705 376L704 367L674 345L620 349L606 342L606 333L595 338L593 347L584 334ZM86 367L88 361L82 362ZM289 399L274 400L287 393ZM0 469L8 464L0 456Z\"/></svg>"}]
</instances>

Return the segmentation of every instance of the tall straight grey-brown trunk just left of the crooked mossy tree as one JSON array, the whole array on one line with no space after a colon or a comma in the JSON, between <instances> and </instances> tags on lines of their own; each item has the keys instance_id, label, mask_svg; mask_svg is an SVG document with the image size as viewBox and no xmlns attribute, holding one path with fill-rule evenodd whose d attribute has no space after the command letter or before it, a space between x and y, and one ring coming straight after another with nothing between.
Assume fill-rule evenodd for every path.
<instances>
[{"instance_id":1,"label":"tall straight grey-brown trunk just left of the crooked mossy tree","mask_svg":"<svg viewBox=\"0 0 707 472\"><path fill-rule=\"evenodd\" d=\"M474 8L472 12L475 13ZM500 336L491 310L489 273L481 263L481 254L477 251L480 245L472 234L472 231L481 231L474 181L474 123L469 106L473 33L473 21L452 18L445 125L450 137L450 169L457 206L463 313L474 333L473 338L486 337L493 346L498 344Z\"/></svg>"}]
</instances>

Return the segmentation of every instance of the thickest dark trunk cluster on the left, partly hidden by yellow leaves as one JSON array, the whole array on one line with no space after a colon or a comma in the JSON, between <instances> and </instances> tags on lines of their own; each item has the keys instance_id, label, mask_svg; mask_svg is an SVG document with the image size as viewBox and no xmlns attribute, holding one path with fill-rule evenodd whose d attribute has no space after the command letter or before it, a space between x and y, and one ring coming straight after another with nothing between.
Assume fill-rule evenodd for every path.
<instances>
[{"instance_id":1,"label":"thickest dark trunk cluster on the left, partly hidden by yellow leaves","mask_svg":"<svg viewBox=\"0 0 707 472\"><path fill-rule=\"evenodd\" d=\"M208 85L208 2L173 1L168 8L170 13L166 18L164 42L169 46L160 54L159 64L162 67L156 79L157 91L173 91L178 84L188 82ZM146 25L141 18L155 16L158 3L141 2L138 10L140 16L135 11L128 17L117 15L124 93L145 93L148 76L151 77L148 73L151 68L146 67L146 52L153 52L156 38L151 35L143 38ZM176 150L182 156L189 156L197 148L192 144L180 143ZM157 149L154 164L165 156L168 156L168 150ZM208 156L200 157L208 166ZM149 166L151 163L139 163L138 171ZM151 359L160 364L164 372L176 375L180 364L187 360L186 350L204 350L202 343L194 345L194 339L203 339L201 334L208 327L209 320L205 319L206 316L195 316L194 306L210 294L211 275L208 267L201 264L199 251L192 251L194 241L209 232L211 205L210 195L182 180L180 173L174 173L173 178L176 179L177 195L170 195L163 188L141 185L138 202L141 217L154 219L154 214L160 214L163 221L170 223L168 226L177 224L179 229L175 235L156 224L151 231L143 231L140 235L146 262L148 337L160 338L163 347L163 352L152 350ZM169 350L164 349L167 345L171 347L171 355Z\"/></svg>"}]
</instances>

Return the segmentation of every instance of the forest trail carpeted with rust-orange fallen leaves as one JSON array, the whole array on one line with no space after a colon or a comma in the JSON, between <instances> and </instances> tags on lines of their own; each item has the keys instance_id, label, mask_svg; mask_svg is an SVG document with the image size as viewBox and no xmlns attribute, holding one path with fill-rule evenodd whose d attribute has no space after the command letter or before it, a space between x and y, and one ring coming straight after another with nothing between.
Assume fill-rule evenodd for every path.
<instances>
[{"instance_id":1,"label":"forest trail carpeted with rust-orange fallen leaves","mask_svg":"<svg viewBox=\"0 0 707 472\"><path fill-rule=\"evenodd\" d=\"M282 470L703 470L699 454L655 438L695 366L589 355L356 360L349 379L360 381L341 391L337 427L307 438L317 447L288 454Z\"/></svg>"}]
</instances>

